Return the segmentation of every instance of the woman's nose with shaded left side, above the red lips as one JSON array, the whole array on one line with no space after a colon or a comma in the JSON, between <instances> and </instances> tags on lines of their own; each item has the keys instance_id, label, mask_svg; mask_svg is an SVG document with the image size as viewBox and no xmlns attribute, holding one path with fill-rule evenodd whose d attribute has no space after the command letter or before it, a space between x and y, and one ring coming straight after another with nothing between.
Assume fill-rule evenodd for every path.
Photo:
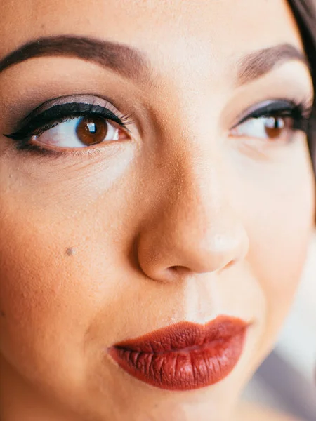
<instances>
[{"instance_id":1,"label":"woman's nose with shaded left side, above the red lips","mask_svg":"<svg viewBox=\"0 0 316 421\"><path fill-rule=\"evenodd\" d=\"M138 236L138 262L154 281L222 271L243 260L249 249L242 220L228 200L225 171L211 160L169 163L176 175L164 179ZM216 166L218 168L216 168Z\"/></svg>"}]
</instances>

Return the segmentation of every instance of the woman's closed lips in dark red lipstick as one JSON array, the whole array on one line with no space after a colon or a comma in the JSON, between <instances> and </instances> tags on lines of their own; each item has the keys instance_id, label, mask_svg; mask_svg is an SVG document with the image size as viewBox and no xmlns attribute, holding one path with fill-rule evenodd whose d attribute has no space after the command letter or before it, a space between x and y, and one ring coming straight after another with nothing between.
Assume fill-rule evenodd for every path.
<instances>
[{"instance_id":1,"label":"woman's closed lips in dark red lipstick","mask_svg":"<svg viewBox=\"0 0 316 421\"><path fill-rule=\"evenodd\" d=\"M249 323L218 316L204 325L181 321L114 344L110 356L126 373L168 390L192 390L227 377L239 361Z\"/></svg>"}]
</instances>

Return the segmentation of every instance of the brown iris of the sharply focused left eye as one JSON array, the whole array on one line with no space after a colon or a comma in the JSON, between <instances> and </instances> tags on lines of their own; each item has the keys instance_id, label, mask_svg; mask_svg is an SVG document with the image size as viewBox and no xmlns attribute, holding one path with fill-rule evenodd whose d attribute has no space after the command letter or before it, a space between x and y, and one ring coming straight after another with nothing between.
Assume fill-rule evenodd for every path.
<instances>
[{"instance_id":1,"label":"brown iris of the sharply focused left eye","mask_svg":"<svg viewBox=\"0 0 316 421\"><path fill-rule=\"evenodd\" d=\"M105 140L107 135L107 121L101 117L83 118L76 128L76 133L84 145L96 145Z\"/></svg>"}]
</instances>

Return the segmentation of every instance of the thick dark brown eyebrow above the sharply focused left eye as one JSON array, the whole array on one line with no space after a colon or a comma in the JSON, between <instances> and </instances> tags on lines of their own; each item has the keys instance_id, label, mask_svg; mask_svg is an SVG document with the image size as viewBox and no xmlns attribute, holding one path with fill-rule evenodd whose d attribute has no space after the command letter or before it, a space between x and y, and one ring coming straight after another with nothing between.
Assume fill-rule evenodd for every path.
<instances>
[{"instance_id":1,"label":"thick dark brown eyebrow above the sharply focused left eye","mask_svg":"<svg viewBox=\"0 0 316 421\"><path fill-rule=\"evenodd\" d=\"M29 41L0 61L0 72L30 58L44 56L81 58L109 67L131 79L140 79L149 74L145 56L136 48L112 41L67 35Z\"/></svg>"}]
</instances>

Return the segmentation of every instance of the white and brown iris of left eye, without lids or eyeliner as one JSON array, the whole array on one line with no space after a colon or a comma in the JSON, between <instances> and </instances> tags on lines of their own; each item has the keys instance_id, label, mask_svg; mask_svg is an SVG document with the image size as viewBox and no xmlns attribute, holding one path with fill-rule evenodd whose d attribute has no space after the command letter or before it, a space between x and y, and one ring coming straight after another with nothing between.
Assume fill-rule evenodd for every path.
<instances>
[{"instance_id":1,"label":"white and brown iris of left eye, without lids or eyeliner","mask_svg":"<svg viewBox=\"0 0 316 421\"><path fill-rule=\"evenodd\" d=\"M81 116L55 123L44 133L33 135L29 142L59 148L82 148L127 137L124 129L114 121L100 116Z\"/></svg>"}]
</instances>

